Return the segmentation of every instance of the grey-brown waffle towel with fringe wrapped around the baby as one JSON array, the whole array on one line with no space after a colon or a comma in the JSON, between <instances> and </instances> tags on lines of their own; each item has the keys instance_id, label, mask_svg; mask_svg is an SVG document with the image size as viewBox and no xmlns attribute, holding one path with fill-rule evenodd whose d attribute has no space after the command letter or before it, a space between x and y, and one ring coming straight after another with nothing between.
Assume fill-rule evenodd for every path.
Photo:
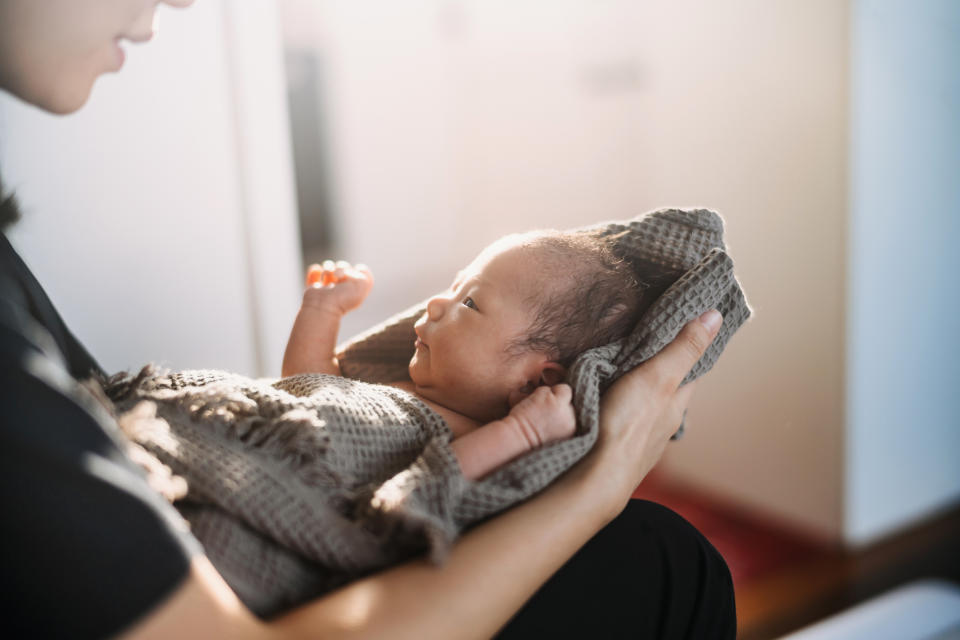
<instances>
[{"instance_id":1,"label":"grey-brown waffle towel with fringe wrapped around the baby","mask_svg":"<svg viewBox=\"0 0 960 640\"><path fill-rule=\"evenodd\" d=\"M114 377L107 393L126 412L121 424L186 479L175 505L251 610L269 617L423 551L441 561L465 527L530 497L579 460L596 441L602 391L717 308L720 334L686 381L710 369L750 313L720 217L663 210L584 230L609 236L617 253L670 282L630 336L574 363L576 435L480 481L461 474L439 415L409 393L371 384L407 379L424 304L348 343L340 366L349 379L150 368Z\"/></svg>"}]
</instances>

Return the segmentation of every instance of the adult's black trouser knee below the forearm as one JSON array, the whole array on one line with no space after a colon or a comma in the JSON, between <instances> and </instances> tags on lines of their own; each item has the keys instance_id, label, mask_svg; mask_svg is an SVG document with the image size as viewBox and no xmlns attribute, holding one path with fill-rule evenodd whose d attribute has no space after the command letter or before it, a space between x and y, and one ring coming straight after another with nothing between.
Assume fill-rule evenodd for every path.
<instances>
[{"instance_id":1,"label":"adult's black trouser knee below the forearm","mask_svg":"<svg viewBox=\"0 0 960 640\"><path fill-rule=\"evenodd\" d=\"M631 500L497 637L724 640L736 631L723 557L670 509Z\"/></svg>"}]
</instances>

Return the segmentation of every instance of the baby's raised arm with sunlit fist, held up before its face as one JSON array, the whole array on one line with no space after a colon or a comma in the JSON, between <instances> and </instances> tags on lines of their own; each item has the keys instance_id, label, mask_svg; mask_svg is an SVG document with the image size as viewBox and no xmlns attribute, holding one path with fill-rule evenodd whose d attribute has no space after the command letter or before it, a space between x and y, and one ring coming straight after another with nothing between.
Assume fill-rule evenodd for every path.
<instances>
[{"instance_id":1,"label":"baby's raised arm with sunlit fist, held up before its face","mask_svg":"<svg viewBox=\"0 0 960 640\"><path fill-rule=\"evenodd\" d=\"M373 275L363 265L354 267L342 261L334 264L330 260L323 266L311 265L303 302L283 353L281 375L340 375L340 365L334 357L340 318L359 307L371 287Z\"/></svg>"}]
</instances>

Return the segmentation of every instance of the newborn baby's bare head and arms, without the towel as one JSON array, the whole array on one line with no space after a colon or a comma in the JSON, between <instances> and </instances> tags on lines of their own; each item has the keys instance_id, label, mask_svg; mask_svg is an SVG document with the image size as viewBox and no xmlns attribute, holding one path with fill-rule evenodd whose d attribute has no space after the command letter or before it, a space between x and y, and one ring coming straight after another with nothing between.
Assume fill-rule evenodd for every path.
<instances>
[{"instance_id":1,"label":"newborn baby's bare head and arms, without the towel","mask_svg":"<svg viewBox=\"0 0 960 640\"><path fill-rule=\"evenodd\" d=\"M363 265L312 265L283 357L284 377L341 375L344 314L370 293ZM533 448L573 435L567 368L627 335L643 288L605 241L578 232L507 236L485 249L417 321L404 389L449 425L465 477L482 478Z\"/></svg>"}]
</instances>

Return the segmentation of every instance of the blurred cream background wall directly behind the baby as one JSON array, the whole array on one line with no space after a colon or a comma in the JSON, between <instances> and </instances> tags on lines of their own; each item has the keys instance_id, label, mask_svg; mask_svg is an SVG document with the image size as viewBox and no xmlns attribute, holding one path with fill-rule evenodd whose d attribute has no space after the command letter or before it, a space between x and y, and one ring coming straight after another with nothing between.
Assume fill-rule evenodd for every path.
<instances>
[{"instance_id":1,"label":"blurred cream background wall directly behind the baby","mask_svg":"<svg viewBox=\"0 0 960 640\"><path fill-rule=\"evenodd\" d=\"M339 253L378 278L354 327L504 233L717 209L756 319L664 465L841 535L846 3L281 7L322 70Z\"/></svg>"}]
</instances>

